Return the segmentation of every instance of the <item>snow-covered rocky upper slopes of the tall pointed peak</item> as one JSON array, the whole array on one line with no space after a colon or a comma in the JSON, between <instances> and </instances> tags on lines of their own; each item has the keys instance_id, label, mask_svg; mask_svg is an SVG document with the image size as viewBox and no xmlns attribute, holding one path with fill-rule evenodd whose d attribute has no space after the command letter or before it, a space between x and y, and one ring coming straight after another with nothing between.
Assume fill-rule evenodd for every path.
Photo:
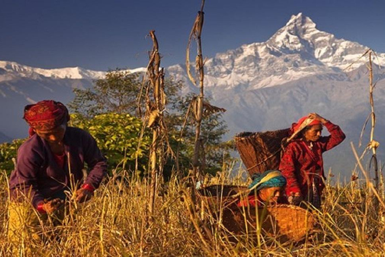
<instances>
[{"instance_id":1,"label":"snow-covered rocky upper slopes of the tall pointed peak","mask_svg":"<svg viewBox=\"0 0 385 257\"><path fill-rule=\"evenodd\" d=\"M208 59L205 85L208 91L219 87L238 92L280 85L314 74L339 73L367 49L317 30L310 18L299 13L266 42L243 45ZM366 61L365 58L357 60L350 70ZM378 54L373 61L385 65L385 54ZM177 79L188 81L185 73L179 73L181 70L185 68L172 66L168 71Z\"/></svg>"}]
</instances>

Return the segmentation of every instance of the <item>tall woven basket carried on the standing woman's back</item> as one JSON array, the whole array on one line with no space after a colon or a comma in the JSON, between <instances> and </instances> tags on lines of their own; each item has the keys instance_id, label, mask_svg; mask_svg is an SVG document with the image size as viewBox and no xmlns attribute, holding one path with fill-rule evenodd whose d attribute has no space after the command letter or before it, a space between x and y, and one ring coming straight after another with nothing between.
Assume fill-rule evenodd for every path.
<instances>
[{"instance_id":1,"label":"tall woven basket carried on the standing woman's back","mask_svg":"<svg viewBox=\"0 0 385 257\"><path fill-rule=\"evenodd\" d=\"M267 132L243 132L234 137L235 145L250 176L278 169L281 142L290 129Z\"/></svg>"}]
</instances>

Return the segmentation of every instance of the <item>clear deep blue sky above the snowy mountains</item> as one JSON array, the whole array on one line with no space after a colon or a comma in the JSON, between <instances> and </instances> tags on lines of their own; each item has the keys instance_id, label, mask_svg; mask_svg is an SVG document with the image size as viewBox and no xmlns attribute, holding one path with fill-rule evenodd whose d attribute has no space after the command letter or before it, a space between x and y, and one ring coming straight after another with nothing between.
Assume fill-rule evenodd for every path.
<instances>
[{"instance_id":1,"label":"clear deep blue sky above the snowy mountains","mask_svg":"<svg viewBox=\"0 0 385 257\"><path fill-rule=\"evenodd\" d=\"M200 0L1 0L0 60L87 69L147 64L154 29L162 66L184 62ZM302 12L319 30L385 52L385 1L206 0L204 56L266 41Z\"/></svg>"}]
</instances>

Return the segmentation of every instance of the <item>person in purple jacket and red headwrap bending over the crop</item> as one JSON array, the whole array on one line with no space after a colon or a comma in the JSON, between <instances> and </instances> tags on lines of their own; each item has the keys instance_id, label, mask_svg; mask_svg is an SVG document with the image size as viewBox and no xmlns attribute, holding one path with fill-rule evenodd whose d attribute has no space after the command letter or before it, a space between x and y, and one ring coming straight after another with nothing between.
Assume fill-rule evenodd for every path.
<instances>
[{"instance_id":1,"label":"person in purple jacket and red headwrap bending over the crop","mask_svg":"<svg viewBox=\"0 0 385 257\"><path fill-rule=\"evenodd\" d=\"M78 202L90 199L107 171L95 139L67 126L70 116L61 102L27 105L24 119L30 126L30 138L19 148L10 177L9 236L15 243L21 241L20 235L29 234L25 229L39 237L39 228L35 229L39 219L54 214L69 196L66 192ZM83 179L85 164L88 176Z\"/></svg>"}]
</instances>

